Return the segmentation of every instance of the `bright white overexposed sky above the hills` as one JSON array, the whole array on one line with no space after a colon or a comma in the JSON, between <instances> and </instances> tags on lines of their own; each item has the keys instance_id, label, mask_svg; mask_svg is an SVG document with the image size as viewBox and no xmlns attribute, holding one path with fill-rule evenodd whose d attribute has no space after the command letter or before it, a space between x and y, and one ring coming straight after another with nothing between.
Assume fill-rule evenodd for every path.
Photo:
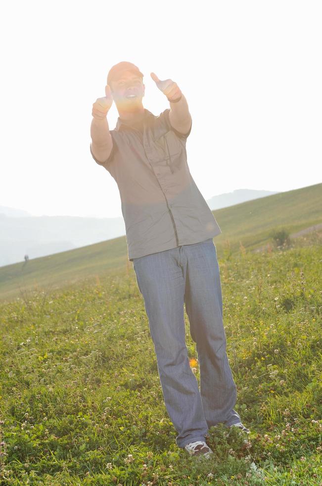
<instances>
[{"instance_id":1,"label":"bright white overexposed sky above the hills","mask_svg":"<svg viewBox=\"0 0 322 486\"><path fill-rule=\"evenodd\" d=\"M0 205L34 215L122 216L91 157L92 103L110 67L143 72L143 106L169 108L150 77L176 81L205 199L322 182L322 2L14 1L0 11ZM118 113L108 114L110 129Z\"/></svg>"}]
</instances>

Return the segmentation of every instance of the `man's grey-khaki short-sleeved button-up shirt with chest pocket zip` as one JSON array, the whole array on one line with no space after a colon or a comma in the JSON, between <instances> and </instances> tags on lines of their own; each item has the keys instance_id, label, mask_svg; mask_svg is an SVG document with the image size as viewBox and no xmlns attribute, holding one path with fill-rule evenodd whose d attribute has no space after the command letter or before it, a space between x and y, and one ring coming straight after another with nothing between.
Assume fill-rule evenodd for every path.
<instances>
[{"instance_id":1,"label":"man's grey-khaki short-sleeved button-up shirt with chest pocket zip","mask_svg":"<svg viewBox=\"0 0 322 486\"><path fill-rule=\"evenodd\" d=\"M169 113L170 108L156 117L144 109L141 130L119 117L110 130L109 158L98 162L91 150L118 185L130 261L221 233L188 168L185 142L191 127L181 134Z\"/></svg>"}]
</instances>

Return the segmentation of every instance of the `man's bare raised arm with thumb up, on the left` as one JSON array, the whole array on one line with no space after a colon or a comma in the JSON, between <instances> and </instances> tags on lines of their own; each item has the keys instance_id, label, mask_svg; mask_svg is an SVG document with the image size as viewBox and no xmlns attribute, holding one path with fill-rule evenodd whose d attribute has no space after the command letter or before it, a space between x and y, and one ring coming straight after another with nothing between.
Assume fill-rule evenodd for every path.
<instances>
[{"instance_id":1,"label":"man's bare raised arm with thumb up, on the left","mask_svg":"<svg viewBox=\"0 0 322 486\"><path fill-rule=\"evenodd\" d=\"M105 162L113 148L113 140L106 118L108 110L113 103L111 90L108 85L105 86L105 94L106 96L103 98L97 98L92 108L91 149L98 162Z\"/></svg>"}]
</instances>

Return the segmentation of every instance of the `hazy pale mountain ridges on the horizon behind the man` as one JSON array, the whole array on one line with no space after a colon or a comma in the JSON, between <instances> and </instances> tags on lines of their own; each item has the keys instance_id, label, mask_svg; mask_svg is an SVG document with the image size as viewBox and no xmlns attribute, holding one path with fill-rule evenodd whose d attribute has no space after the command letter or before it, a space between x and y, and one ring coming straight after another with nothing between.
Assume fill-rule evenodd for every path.
<instances>
[{"instance_id":1,"label":"hazy pale mountain ridges on the horizon behind the man","mask_svg":"<svg viewBox=\"0 0 322 486\"><path fill-rule=\"evenodd\" d=\"M206 202L212 211L240 202L276 194L253 189L237 189L219 194ZM38 258L126 234L123 217L33 216L27 211L0 206L0 267Z\"/></svg>"}]
</instances>

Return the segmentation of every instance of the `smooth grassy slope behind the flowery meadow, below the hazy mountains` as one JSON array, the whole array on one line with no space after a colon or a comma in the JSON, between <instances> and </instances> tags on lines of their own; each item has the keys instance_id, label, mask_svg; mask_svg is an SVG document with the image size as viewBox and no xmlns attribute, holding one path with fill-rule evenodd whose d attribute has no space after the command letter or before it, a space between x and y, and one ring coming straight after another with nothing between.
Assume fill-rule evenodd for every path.
<instances>
[{"instance_id":1,"label":"smooth grassy slope behind the flowery meadow, below the hazy mountains","mask_svg":"<svg viewBox=\"0 0 322 486\"><path fill-rule=\"evenodd\" d=\"M252 248L269 241L272 229L295 232L322 222L322 184L247 201L214 212L222 234L215 238L218 257L236 251L241 242ZM35 258L26 265L0 268L0 300L9 300L33 288L55 288L95 275L124 275L133 271L126 237Z\"/></svg>"}]
</instances>

